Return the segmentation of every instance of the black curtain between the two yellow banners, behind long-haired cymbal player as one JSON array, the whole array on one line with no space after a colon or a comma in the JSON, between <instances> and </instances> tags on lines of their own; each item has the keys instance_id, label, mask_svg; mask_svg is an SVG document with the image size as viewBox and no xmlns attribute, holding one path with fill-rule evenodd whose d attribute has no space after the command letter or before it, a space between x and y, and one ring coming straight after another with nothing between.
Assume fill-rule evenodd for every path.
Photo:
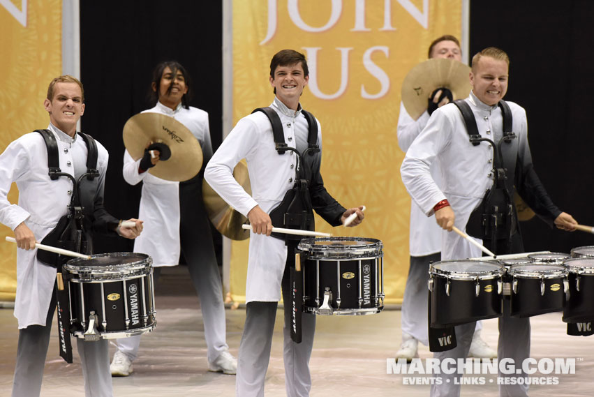
<instances>
[{"instance_id":1,"label":"black curtain between the two yellow banners, behind long-haired cymbal player","mask_svg":"<svg viewBox=\"0 0 594 397\"><path fill-rule=\"evenodd\" d=\"M220 1L81 1L82 130L110 153L105 207L117 218L138 216L140 184L121 175L122 129L147 100L157 63L179 61L193 79L190 105L209 113L214 149L221 144L222 21ZM220 234L215 233L217 245ZM98 237L96 252L131 251L132 241ZM220 251L220 250L219 250Z\"/></svg>"}]
</instances>

